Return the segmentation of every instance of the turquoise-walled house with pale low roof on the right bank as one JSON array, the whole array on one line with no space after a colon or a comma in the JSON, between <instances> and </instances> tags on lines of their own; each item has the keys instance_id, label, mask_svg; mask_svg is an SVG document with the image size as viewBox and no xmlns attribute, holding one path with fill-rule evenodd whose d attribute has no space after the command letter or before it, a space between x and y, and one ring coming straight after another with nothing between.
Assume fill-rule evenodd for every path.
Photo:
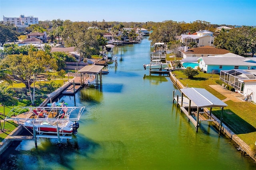
<instances>
[{"instance_id":1,"label":"turquoise-walled house with pale low roof on the right bank","mask_svg":"<svg viewBox=\"0 0 256 170\"><path fill-rule=\"evenodd\" d=\"M225 55L200 57L198 59L198 63L201 70L207 73L220 73L221 70L232 69L256 69L256 58L245 58L232 53L227 53Z\"/></svg>"}]
</instances>

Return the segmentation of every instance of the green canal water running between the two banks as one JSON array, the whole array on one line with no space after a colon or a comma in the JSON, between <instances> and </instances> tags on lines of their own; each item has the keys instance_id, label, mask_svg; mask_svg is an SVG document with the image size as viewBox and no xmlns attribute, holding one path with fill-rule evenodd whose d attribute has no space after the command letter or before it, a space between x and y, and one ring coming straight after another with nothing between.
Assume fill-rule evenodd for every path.
<instances>
[{"instance_id":1,"label":"green canal water running between the two banks","mask_svg":"<svg viewBox=\"0 0 256 170\"><path fill-rule=\"evenodd\" d=\"M1 158L1 169L61 170L250 170L256 164L207 122L196 133L172 103L167 76L149 76L150 41L115 47L117 68L102 76L102 91L81 89L60 96L68 106L86 106L78 134L22 141ZM114 65L114 64L113 64ZM176 91L178 93L178 90Z\"/></svg>"}]
</instances>

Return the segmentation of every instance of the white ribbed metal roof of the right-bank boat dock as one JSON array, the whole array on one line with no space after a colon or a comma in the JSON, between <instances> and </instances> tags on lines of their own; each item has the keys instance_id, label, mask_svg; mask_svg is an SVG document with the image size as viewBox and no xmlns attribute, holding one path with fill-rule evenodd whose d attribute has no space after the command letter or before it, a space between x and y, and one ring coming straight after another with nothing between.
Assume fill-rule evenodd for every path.
<instances>
[{"instance_id":1,"label":"white ribbed metal roof of the right-bank boat dock","mask_svg":"<svg viewBox=\"0 0 256 170\"><path fill-rule=\"evenodd\" d=\"M197 107L225 107L228 106L216 96L204 88L182 88L181 92L186 95Z\"/></svg>"}]
</instances>

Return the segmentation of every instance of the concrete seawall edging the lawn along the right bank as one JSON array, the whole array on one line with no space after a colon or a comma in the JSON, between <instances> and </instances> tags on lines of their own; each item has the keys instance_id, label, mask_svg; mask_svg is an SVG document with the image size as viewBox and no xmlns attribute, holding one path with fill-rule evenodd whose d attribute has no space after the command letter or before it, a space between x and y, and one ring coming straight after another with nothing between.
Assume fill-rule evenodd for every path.
<instances>
[{"instance_id":1,"label":"concrete seawall edging the lawn along the right bank","mask_svg":"<svg viewBox=\"0 0 256 170\"><path fill-rule=\"evenodd\" d=\"M186 88L183 86L183 84L170 72L170 79L176 85L179 89L181 88ZM204 111L207 111L207 108L204 108ZM213 126L216 129L220 129L220 120L212 115L216 121L213 121ZM239 145L240 150L246 152L253 160L256 161L256 153L253 152L253 150L247 145L242 139L240 139L234 132L232 132L226 125L222 123L222 129L221 129L222 134L226 135L230 139L232 139L237 145Z\"/></svg>"}]
</instances>

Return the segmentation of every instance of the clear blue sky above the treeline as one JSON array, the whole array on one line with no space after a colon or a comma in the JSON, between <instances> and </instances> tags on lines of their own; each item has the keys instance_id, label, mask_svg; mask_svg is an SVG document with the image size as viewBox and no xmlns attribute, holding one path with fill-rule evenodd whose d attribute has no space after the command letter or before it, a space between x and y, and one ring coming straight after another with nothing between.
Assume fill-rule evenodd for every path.
<instances>
[{"instance_id":1,"label":"clear blue sky above the treeline","mask_svg":"<svg viewBox=\"0 0 256 170\"><path fill-rule=\"evenodd\" d=\"M256 0L0 0L0 20L25 16L45 20L161 22L208 21L256 25Z\"/></svg>"}]
</instances>

